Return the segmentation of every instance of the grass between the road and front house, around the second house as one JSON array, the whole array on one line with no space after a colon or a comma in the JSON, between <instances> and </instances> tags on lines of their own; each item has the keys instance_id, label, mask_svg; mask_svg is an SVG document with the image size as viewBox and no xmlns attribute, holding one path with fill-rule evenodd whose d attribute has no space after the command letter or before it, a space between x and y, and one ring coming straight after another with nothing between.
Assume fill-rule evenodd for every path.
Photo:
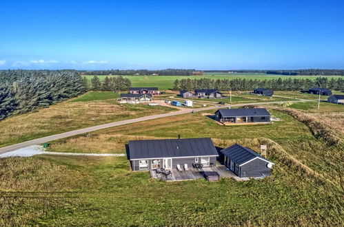
<instances>
[{"instance_id":1,"label":"grass between the road and front house, around the second house","mask_svg":"<svg viewBox=\"0 0 344 227\"><path fill-rule=\"evenodd\" d=\"M214 113L214 111L211 112ZM268 125L225 127L217 124L210 116L203 116L203 114L184 114L173 118L159 118L94 131L90 138L73 136L72 138L52 141L50 151L125 153L125 144L128 144L129 140L177 138L178 134L182 138L210 137L218 140L264 137L278 142L313 138L310 130L291 116L279 111L271 111L271 113L273 116L281 118L281 121Z\"/></svg>"}]
</instances>

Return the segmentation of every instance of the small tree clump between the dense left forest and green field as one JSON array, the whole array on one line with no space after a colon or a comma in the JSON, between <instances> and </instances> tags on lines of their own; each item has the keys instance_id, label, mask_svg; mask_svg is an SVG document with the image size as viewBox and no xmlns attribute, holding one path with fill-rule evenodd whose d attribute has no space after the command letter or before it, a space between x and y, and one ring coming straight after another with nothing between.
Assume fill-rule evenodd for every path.
<instances>
[{"instance_id":1,"label":"small tree clump between the dense left forest and green field","mask_svg":"<svg viewBox=\"0 0 344 227\"><path fill-rule=\"evenodd\" d=\"M128 91L132 86L131 81L123 76L106 76L103 81L98 76L93 76L88 85L88 89L92 91Z\"/></svg>"}]
</instances>

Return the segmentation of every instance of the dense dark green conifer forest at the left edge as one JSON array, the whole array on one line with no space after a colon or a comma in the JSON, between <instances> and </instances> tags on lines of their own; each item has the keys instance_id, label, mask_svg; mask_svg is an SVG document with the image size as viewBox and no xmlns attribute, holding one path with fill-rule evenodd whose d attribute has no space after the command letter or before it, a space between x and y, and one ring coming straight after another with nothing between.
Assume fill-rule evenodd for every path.
<instances>
[{"instance_id":1,"label":"dense dark green conifer forest at the left edge","mask_svg":"<svg viewBox=\"0 0 344 227\"><path fill-rule=\"evenodd\" d=\"M75 70L0 71L0 120L79 96L86 84Z\"/></svg>"}]
</instances>

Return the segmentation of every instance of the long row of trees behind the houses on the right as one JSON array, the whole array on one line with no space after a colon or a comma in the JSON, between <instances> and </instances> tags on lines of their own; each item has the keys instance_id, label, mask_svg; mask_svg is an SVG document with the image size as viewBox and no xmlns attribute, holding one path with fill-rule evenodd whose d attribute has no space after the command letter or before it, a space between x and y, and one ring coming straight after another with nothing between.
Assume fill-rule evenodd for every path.
<instances>
[{"instance_id":1,"label":"long row of trees behind the houses on the right","mask_svg":"<svg viewBox=\"0 0 344 227\"><path fill-rule=\"evenodd\" d=\"M192 91L194 89L219 89L221 91L250 91L258 87L270 88L276 91L297 91L306 90L312 87L325 87L338 91L344 90L343 78L318 77L315 80L303 78L277 78L272 80L247 80L245 78L228 79L181 79L174 81L174 90L185 89Z\"/></svg>"}]
</instances>

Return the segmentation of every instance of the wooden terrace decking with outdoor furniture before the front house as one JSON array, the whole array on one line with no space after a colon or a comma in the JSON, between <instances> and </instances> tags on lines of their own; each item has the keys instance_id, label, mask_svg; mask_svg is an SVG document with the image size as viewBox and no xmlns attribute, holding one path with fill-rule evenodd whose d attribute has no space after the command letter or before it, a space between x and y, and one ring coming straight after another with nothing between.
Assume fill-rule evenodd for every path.
<instances>
[{"instance_id":1,"label":"wooden terrace decking with outdoor furniture before the front house","mask_svg":"<svg viewBox=\"0 0 344 227\"><path fill-rule=\"evenodd\" d=\"M156 174L155 171L150 171L153 178L165 181L180 181L180 180L195 180L204 178L204 172L217 172L221 177L233 177L235 180L245 180L236 176L232 171L228 171L225 166L203 167L203 169L190 168L188 171L178 171L172 169L172 175L165 177L161 174Z\"/></svg>"}]
</instances>

